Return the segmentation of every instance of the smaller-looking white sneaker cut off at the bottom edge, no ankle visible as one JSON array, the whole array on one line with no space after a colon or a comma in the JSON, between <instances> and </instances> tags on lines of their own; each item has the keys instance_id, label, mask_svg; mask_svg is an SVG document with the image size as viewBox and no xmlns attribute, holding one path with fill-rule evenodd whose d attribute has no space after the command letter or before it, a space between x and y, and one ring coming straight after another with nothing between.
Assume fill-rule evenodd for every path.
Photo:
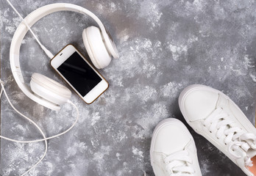
<instances>
[{"instance_id":1,"label":"smaller-looking white sneaker cut off at the bottom edge, no ankle visible","mask_svg":"<svg viewBox=\"0 0 256 176\"><path fill-rule=\"evenodd\" d=\"M156 176L201 176L191 133L177 119L161 121L154 129L150 160Z\"/></svg>"}]
</instances>

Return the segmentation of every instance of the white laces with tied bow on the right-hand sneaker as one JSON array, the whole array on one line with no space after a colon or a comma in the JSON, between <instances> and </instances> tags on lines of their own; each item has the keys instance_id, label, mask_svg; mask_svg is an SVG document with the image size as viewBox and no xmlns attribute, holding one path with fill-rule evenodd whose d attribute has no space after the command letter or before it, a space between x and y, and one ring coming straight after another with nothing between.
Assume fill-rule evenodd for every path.
<instances>
[{"instance_id":1,"label":"white laces with tied bow on the right-hand sneaker","mask_svg":"<svg viewBox=\"0 0 256 176\"><path fill-rule=\"evenodd\" d=\"M218 108L206 118L204 124L210 133L216 134L217 139L223 139L228 147L228 151L235 158L244 158L246 166L252 166L251 158L246 154L249 149L256 150L256 136L254 133L247 133L238 126L236 122L230 119L223 109ZM244 151L242 155L235 153L238 148Z\"/></svg>"}]
</instances>

